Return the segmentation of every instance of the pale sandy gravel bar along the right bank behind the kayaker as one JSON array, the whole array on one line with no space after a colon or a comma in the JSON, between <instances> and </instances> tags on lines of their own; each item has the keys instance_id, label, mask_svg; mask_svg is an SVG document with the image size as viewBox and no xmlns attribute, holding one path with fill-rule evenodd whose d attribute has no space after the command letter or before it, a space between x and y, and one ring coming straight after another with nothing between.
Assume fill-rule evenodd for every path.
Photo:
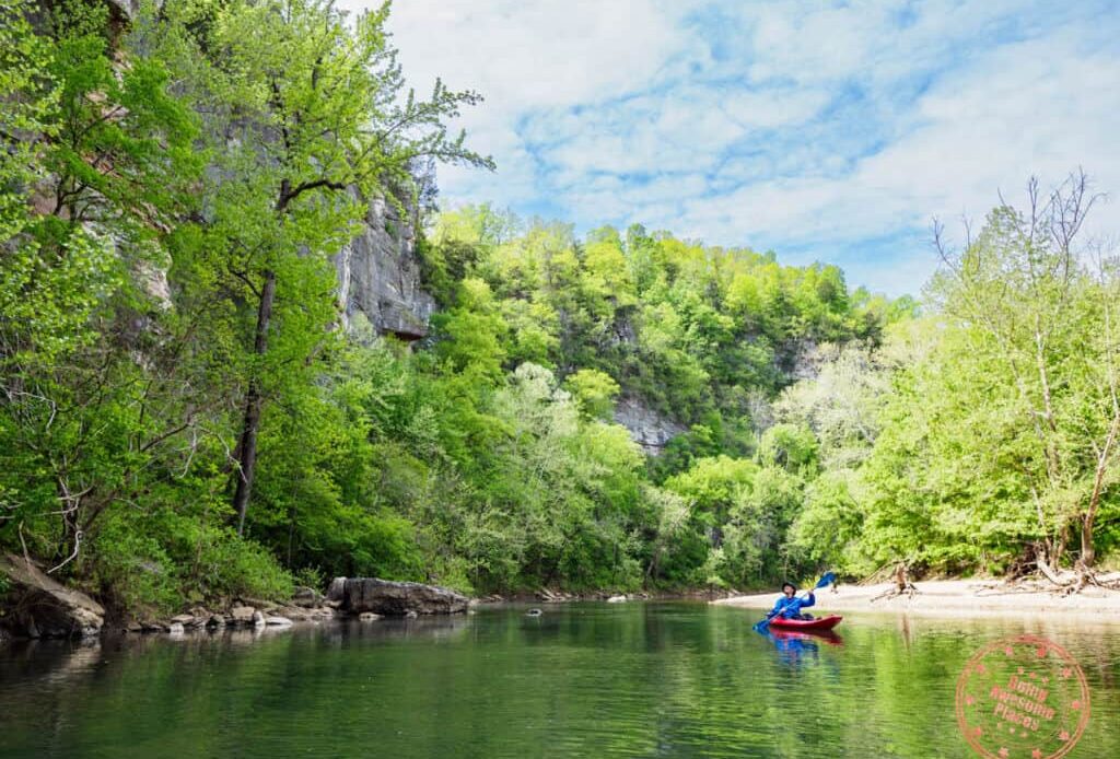
<instances>
[{"instance_id":1,"label":"pale sandy gravel bar along the right bank behind the kayaker","mask_svg":"<svg viewBox=\"0 0 1120 759\"><path fill-rule=\"evenodd\" d=\"M1001 617L1063 615L1093 617L1120 624L1120 591L1089 587L1062 596L1032 583L1008 584L1001 580L931 580L915 582L915 592L887 596L895 585L841 584L818 591L821 611L902 612L930 617ZM718 606L771 609L777 592L735 596L712 601ZM814 608L813 611L816 611Z\"/></svg>"}]
</instances>

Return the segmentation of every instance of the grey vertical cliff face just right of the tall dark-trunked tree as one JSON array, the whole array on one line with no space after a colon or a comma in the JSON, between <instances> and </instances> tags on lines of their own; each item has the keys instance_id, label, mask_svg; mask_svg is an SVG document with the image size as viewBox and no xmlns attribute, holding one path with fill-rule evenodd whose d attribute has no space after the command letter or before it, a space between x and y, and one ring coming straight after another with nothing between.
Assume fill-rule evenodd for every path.
<instances>
[{"instance_id":1,"label":"grey vertical cliff face just right of the tall dark-trunked tree","mask_svg":"<svg viewBox=\"0 0 1120 759\"><path fill-rule=\"evenodd\" d=\"M347 324L361 313L381 334L404 340L428 335L436 300L420 287L416 231L382 198L370 203L365 229L335 256Z\"/></svg>"}]
</instances>

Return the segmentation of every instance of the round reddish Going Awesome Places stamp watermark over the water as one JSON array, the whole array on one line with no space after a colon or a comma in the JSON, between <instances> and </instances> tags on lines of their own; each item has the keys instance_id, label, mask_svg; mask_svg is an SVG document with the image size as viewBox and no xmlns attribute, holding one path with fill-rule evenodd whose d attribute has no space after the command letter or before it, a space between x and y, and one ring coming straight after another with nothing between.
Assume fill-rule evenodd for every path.
<instances>
[{"instance_id":1,"label":"round reddish Going Awesome Places stamp watermark over the water","mask_svg":"<svg viewBox=\"0 0 1120 759\"><path fill-rule=\"evenodd\" d=\"M978 650L956 681L956 724L990 759L1056 759L1089 722L1089 684L1067 650L1020 635Z\"/></svg>"}]
</instances>

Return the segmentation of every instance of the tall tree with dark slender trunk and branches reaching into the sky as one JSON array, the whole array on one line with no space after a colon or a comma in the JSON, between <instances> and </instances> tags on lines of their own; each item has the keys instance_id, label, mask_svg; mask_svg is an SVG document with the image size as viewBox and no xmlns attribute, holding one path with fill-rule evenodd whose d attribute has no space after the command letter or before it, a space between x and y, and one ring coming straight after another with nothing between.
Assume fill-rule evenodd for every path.
<instances>
[{"instance_id":1,"label":"tall tree with dark slender trunk and branches reaching into the sky","mask_svg":"<svg viewBox=\"0 0 1120 759\"><path fill-rule=\"evenodd\" d=\"M242 532L270 384L306 362L330 328L320 308L317 319L302 319L311 322L305 339L271 355L284 339L278 330L291 337L291 322L301 320L295 293L278 304L286 284L318 270L324 284L310 294L320 307L329 303L327 256L362 223L368 198L400 203L418 159L493 163L466 148L463 134L449 137L444 123L477 103L475 93L437 81L430 99L411 91L402 99L384 30L389 3L353 24L326 0L198 2L168 13L194 59L205 62L196 97L209 114L214 151L207 244L243 285L239 297L255 304L235 449L233 507Z\"/></svg>"}]
</instances>

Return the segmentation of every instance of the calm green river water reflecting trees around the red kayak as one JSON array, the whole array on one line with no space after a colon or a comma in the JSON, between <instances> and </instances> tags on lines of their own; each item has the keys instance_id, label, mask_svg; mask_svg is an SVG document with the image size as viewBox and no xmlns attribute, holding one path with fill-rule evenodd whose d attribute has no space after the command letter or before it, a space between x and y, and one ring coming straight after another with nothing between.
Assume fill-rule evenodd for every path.
<instances>
[{"instance_id":1,"label":"calm green river water reflecting trees around the red kayak","mask_svg":"<svg viewBox=\"0 0 1120 759\"><path fill-rule=\"evenodd\" d=\"M1117 626L849 615L834 638L797 638L703 603L526 608L11 645L0 757L978 756L958 680L1024 634L1084 673L1091 709L1066 756L1120 757Z\"/></svg>"}]
</instances>

